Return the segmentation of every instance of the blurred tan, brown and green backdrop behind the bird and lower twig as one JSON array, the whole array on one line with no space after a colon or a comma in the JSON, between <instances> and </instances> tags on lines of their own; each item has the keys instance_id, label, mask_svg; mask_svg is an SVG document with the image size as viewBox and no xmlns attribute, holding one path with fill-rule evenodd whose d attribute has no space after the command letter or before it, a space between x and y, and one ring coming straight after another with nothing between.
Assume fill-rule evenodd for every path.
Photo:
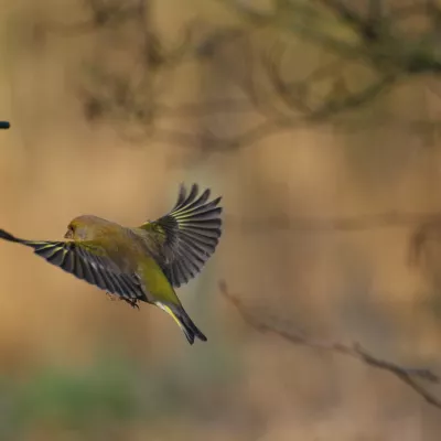
<instances>
[{"instance_id":1,"label":"blurred tan, brown and green backdrop behind the bird and lower twig","mask_svg":"<svg viewBox=\"0 0 441 441\"><path fill-rule=\"evenodd\" d=\"M0 244L0 439L439 440L398 378L260 333L219 281L266 323L441 373L440 7L0 0L1 227L138 225L181 182L225 207L179 290L208 336L192 347Z\"/></svg>"}]
</instances>

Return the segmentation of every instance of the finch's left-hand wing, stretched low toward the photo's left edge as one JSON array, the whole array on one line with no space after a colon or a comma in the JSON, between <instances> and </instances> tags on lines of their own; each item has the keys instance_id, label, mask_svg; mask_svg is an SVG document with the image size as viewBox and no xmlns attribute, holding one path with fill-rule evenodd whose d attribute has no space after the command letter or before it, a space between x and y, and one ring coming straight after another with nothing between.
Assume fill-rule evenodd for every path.
<instances>
[{"instance_id":1,"label":"finch's left-hand wing, stretched low toward the photo's left edge","mask_svg":"<svg viewBox=\"0 0 441 441\"><path fill-rule=\"evenodd\" d=\"M0 229L0 238L33 248L47 262L105 291L118 294L129 303L147 301L137 277L121 272L94 243L24 240L3 229Z\"/></svg>"}]
</instances>

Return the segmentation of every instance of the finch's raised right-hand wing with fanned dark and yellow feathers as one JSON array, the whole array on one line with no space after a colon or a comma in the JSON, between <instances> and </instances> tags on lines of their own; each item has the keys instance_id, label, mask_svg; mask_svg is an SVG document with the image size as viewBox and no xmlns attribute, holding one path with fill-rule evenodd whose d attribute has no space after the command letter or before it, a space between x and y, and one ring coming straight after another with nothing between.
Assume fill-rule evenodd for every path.
<instances>
[{"instance_id":1,"label":"finch's raised right-hand wing with fanned dark and yellow feathers","mask_svg":"<svg viewBox=\"0 0 441 441\"><path fill-rule=\"evenodd\" d=\"M170 213L140 228L159 246L152 254L173 287L194 278L216 249L222 234L222 197L211 202L209 189L198 195L193 184L190 193L181 185L178 202Z\"/></svg>"}]
</instances>

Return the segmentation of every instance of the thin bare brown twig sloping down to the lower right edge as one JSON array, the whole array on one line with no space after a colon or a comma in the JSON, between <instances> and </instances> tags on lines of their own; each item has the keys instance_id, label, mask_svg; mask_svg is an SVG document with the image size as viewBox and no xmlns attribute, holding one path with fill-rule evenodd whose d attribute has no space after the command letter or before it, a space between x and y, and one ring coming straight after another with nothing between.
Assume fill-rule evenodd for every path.
<instances>
[{"instance_id":1,"label":"thin bare brown twig sloping down to the lower right edge","mask_svg":"<svg viewBox=\"0 0 441 441\"><path fill-rule=\"evenodd\" d=\"M395 363L387 362L375 355L368 353L358 343L344 344L335 341L321 341L311 338L303 332L298 330L287 330L277 323L277 320L268 320L260 318L257 314L249 311L249 308L244 304L238 295L233 294L225 281L219 282L219 289L224 298L232 303L243 320L252 329L261 333L271 333L286 340L287 342L294 345L302 345L312 347L321 351L329 351L332 353L349 356L365 363L368 366L387 370L395 375L406 385L411 387L418 395L420 395L427 402L441 409L441 400L431 395L424 387L422 387L417 379L426 380L432 384L440 383L440 378L429 369L409 368L399 366ZM291 326L290 326L291 327Z\"/></svg>"}]
</instances>

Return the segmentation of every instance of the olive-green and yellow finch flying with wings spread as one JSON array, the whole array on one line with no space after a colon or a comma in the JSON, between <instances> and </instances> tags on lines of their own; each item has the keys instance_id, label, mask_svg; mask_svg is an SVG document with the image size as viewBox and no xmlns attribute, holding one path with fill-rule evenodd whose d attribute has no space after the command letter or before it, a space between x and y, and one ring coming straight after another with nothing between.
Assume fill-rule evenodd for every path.
<instances>
[{"instance_id":1,"label":"olive-green and yellow finch flying with wings spread","mask_svg":"<svg viewBox=\"0 0 441 441\"><path fill-rule=\"evenodd\" d=\"M209 189L181 185L174 207L157 220L125 227L94 216L75 217L65 241L25 240L0 229L0 238L33 248L37 256L133 308L143 301L172 316L190 344L206 342L174 288L193 279L214 254L222 234L220 197Z\"/></svg>"}]
</instances>

